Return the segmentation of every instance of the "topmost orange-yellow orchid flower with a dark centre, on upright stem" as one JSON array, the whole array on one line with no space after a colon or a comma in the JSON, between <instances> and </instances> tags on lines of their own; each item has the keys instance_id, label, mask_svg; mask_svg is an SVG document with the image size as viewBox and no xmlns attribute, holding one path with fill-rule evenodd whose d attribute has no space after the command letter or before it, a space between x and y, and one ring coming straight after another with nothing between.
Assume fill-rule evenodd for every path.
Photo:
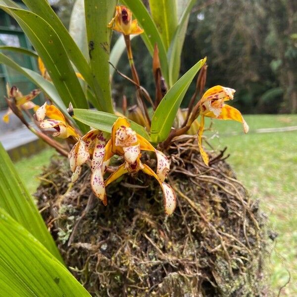
<instances>
[{"instance_id":1,"label":"topmost orange-yellow orchid flower with a dark centre, on upright stem","mask_svg":"<svg viewBox=\"0 0 297 297\"><path fill-rule=\"evenodd\" d=\"M132 12L126 6L116 6L115 16L108 24L108 28L121 32L124 35L141 34L144 32L137 20L132 21Z\"/></svg>"}]
</instances>

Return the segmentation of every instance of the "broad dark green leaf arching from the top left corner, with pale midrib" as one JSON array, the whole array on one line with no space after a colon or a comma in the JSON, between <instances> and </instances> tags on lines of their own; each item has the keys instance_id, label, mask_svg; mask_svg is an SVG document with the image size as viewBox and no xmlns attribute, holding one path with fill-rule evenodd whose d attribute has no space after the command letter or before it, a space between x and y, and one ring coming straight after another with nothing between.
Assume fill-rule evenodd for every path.
<instances>
[{"instance_id":1,"label":"broad dark green leaf arching from the top left corner, with pale midrib","mask_svg":"<svg viewBox=\"0 0 297 297\"><path fill-rule=\"evenodd\" d=\"M87 99L67 53L49 24L37 14L27 10L8 8L3 5L0 5L0 8L13 16L26 33L43 59L64 104L67 106L71 101L75 107L88 108ZM87 131L84 125L79 126L83 132Z\"/></svg>"}]
</instances>

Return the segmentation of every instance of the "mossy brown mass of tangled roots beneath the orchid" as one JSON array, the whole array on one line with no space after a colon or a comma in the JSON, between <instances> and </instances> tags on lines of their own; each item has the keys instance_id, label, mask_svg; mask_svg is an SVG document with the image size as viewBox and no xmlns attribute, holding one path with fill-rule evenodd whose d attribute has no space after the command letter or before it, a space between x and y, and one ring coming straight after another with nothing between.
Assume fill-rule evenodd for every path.
<instances>
[{"instance_id":1,"label":"mossy brown mass of tangled roots beneath the orchid","mask_svg":"<svg viewBox=\"0 0 297 297\"><path fill-rule=\"evenodd\" d=\"M167 154L177 194L169 217L158 183L142 173L108 186L104 206L87 166L72 185L68 160L51 160L36 197L70 271L92 296L270 296L267 219L223 152L206 167L181 137ZM154 168L152 155L143 158Z\"/></svg>"}]
</instances>

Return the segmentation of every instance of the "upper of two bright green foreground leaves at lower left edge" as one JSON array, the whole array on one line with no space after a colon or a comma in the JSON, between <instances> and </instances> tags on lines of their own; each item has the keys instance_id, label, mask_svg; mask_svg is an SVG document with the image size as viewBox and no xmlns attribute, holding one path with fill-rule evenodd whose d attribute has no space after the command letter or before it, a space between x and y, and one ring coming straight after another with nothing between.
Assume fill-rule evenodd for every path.
<instances>
[{"instance_id":1,"label":"upper of two bright green foreground leaves at lower left edge","mask_svg":"<svg viewBox=\"0 0 297 297\"><path fill-rule=\"evenodd\" d=\"M18 176L1 143L0 160L0 207L32 233L58 260L62 261L32 196ZM1 237L0 242L2 241Z\"/></svg>"}]
</instances>

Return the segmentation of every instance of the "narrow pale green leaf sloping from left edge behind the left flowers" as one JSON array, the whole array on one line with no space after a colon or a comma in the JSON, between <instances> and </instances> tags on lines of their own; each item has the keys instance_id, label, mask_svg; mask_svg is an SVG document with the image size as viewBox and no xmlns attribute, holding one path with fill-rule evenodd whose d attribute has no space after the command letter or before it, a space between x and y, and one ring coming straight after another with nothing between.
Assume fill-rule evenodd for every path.
<instances>
[{"instance_id":1,"label":"narrow pale green leaf sloping from left edge behind the left flowers","mask_svg":"<svg viewBox=\"0 0 297 297\"><path fill-rule=\"evenodd\" d=\"M52 83L44 79L37 72L19 66L17 63L15 63L13 60L11 60L9 57L2 53L0 53L0 63L5 64L6 66L11 67L12 69L26 76L29 80L31 80L49 96L49 98L63 112L64 115L69 117L65 104L63 103L61 97L59 96L57 90L55 89Z\"/></svg>"}]
</instances>

